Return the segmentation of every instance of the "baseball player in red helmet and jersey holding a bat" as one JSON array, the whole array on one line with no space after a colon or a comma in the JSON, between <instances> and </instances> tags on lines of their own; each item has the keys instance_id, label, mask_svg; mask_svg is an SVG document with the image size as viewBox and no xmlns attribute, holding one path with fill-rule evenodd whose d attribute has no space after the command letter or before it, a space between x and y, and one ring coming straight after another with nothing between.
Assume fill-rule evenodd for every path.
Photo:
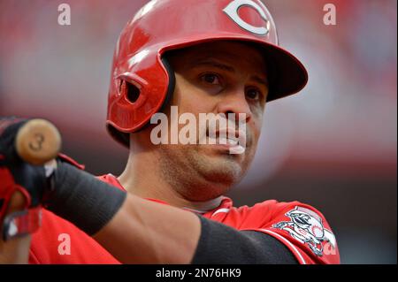
<instances>
[{"instance_id":1,"label":"baseball player in red helmet and jersey holding a bat","mask_svg":"<svg viewBox=\"0 0 398 282\"><path fill-rule=\"evenodd\" d=\"M0 258L340 263L332 229L310 205L234 207L224 196L255 156L265 104L306 83L304 66L279 48L261 1L150 1L127 23L113 58L106 126L130 152L119 177L96 178L62 154L51 166L28 164L13 146L27 120L0 121ZM233 121L215 134L199 124L190 142L173 143L183 123L175 131L172 107L179 120L182 113L195 120L212 113ZM160 132L169 142L154 142L158 113L167 118ZM210 139L215 143L202 142Z\"/></svg>"}]
</instances>

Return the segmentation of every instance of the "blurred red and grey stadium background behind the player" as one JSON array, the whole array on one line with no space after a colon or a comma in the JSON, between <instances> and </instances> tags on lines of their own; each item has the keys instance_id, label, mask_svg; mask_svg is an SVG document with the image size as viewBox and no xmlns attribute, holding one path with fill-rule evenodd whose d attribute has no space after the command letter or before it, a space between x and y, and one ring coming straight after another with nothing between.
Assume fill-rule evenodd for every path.
<instances>
[{"instance_id":1,"label":"blurred red and grey stadium background behind the player","mask_svg":"<svg viewBox=\"0 0 398 282\"><path fill-rule=\"evenodd\" d=\"M92 173L119 175L127 150L104 127L111 57L146 2L1 0L0 115L50 118L66 154ZM62 3L71 26L57 24ZM328 3L336 26L324 25ZM236 205L310 203L332 225L341 263L396 263L397 2L264 4L310 82L267 105L256 160L229 196Z\"/></svg>"}]
</instances>

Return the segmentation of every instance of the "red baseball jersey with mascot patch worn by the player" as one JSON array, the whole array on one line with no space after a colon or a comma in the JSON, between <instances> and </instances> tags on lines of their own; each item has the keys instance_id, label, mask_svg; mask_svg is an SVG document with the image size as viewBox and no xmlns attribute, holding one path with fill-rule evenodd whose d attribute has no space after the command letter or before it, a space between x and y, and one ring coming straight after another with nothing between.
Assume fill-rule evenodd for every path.
<instances>
[{"instance_id":1,"label":"red baseball jersey with mascot patch worn by the player","mask_svg":"<svg viewBox=\"0 0 398 282\"><path fill-rule=\"evenodd\" d=\"M111 174L99 179L125 190ZM336 240L325 217L301 202L272 200L235 208L232 200L224 197L216 209L199 213L240 231L271 235L287 246L299 263L340 263ZM49 210L43 210L42 227L32 236L29 263L119 262L85 232Z\"/></svg>"}]
</instances>

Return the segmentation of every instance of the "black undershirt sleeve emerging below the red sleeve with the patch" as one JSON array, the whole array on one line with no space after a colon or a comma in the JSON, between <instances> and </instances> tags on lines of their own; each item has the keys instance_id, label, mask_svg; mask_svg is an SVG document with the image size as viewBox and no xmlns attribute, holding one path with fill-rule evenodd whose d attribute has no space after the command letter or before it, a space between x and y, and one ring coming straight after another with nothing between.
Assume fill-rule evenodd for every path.
<instances>
[{"instance_id":1,"label":"black undershirt sleeve emerging below the red sleeve with the patch","mask_svg":"<svg viewBox=\"0 0 398 282\"><path fill-rule=\"evenodd\" d=\"M263 232L238 231L199 216L201 236L193 264L297 264L292 252Z\"/></svg>"}]
</instances>

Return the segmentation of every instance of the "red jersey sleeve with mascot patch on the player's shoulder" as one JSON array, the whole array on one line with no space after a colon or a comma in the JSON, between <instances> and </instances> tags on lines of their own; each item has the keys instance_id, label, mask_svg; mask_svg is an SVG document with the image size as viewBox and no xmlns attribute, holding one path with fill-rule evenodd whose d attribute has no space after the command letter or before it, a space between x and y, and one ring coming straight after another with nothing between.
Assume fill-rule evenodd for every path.
<instances>
[{"instance_id":1,"label":"red jersey sleeve with mascot patch on the player's shoulder","mask_svg":"<svg viewBox=\"0 0 398 282\"><path fill-rule=\"evenodd\" d=\"M271 235L287 246L299 263L340 263L339 249L330 225L322 213L310 205L266 201L246 212L247 217L240 230Z\"/></svg>"}]
</instances>

